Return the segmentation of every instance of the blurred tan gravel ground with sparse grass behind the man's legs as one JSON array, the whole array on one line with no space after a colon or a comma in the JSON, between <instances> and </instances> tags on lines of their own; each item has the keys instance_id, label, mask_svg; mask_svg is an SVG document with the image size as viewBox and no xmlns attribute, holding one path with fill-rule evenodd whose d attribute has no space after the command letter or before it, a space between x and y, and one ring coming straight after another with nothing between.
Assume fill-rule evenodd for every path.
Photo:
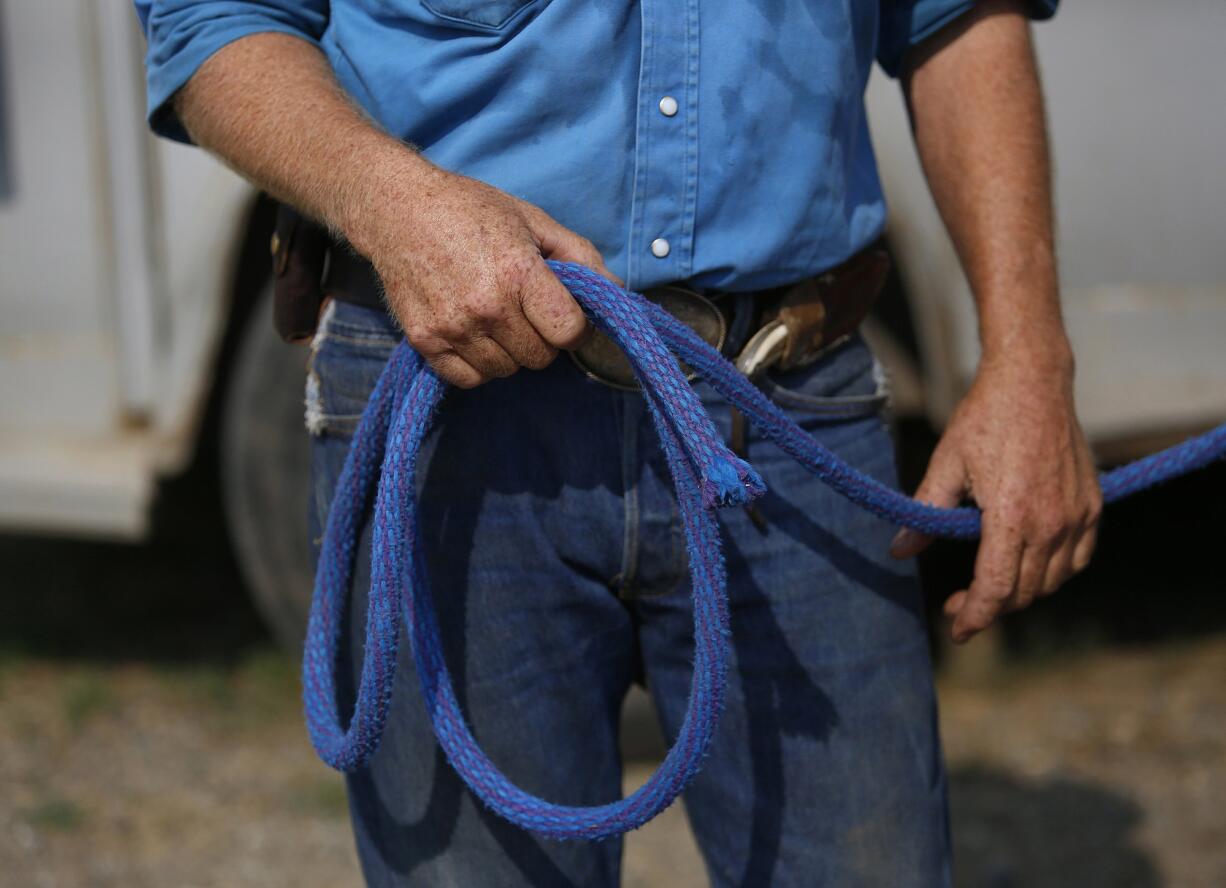
<instances>
[{"instance_id":1,"label":"blurred tan gravel ground with sparse grass behind the man's legs","mask_svg":"<svg viewBox=\"0 0 1226 888\"><path fill-rule=\"evenodd\" d=\"M1216 637L944 681L959 884L1226 884L1224 675ZM4 884L358 883L340 780L271 649L7 660L0 785ZM631 836L625 884L705 884L679 807Z\"/></svg>"}]
</instances>

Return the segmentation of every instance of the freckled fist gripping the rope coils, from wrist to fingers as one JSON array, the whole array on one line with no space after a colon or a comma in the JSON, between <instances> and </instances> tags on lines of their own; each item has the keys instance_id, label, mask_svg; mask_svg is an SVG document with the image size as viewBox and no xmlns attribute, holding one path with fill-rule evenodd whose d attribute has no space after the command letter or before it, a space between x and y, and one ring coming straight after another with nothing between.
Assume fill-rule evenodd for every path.
<instances>
[{"instance_id":1,"label":"freckled fist gripping the rope coils, from wrist to fingers","mask_svg":"<svg viewBox=\"0 0 1226 888\"><path fill-rule=\"evenodd\" d=\"M613 278L587 239L541 209L414 158L357 223L409 345L463 389L521 367L541 369L590 334L546 265L579 262ZM615 280L615 278L613 278Z\"/></svg>"}]
</instances>

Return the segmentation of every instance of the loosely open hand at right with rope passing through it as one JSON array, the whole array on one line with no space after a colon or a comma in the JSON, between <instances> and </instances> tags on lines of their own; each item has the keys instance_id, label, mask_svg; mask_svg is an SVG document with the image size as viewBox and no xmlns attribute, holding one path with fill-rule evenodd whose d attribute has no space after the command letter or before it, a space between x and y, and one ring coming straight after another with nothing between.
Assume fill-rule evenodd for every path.
<instances>
[{"instance_id":1,"label":"loosely open hand at right with rope passing through it","mask_svg":"<svg viewBox=\"0 0 1226 888\"><path fill-rule=\"evenodd\" d=\"M945 508L966 497L983 511L983 534L975 579L945 602L958 643L1051 595L1094 553L1102 493L1073 408L1067 350L981 363L916 491ZM890 553L910 558L931 542L902 530Z\"/></svg>"}]
</instances>

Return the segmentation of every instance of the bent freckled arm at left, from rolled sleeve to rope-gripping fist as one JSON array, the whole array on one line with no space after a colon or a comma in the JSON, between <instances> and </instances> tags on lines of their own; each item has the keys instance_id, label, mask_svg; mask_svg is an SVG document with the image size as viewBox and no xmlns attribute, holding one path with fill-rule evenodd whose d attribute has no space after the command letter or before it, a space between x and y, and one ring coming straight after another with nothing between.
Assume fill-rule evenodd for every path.
<instances>
[{"instance_id":1,"label":"bent freckled arm at left, from rolled sleeve to rope-gripping fist","mask_svg":"<svg viewBox=\"0 0 1226 888\"><path fill-rule=\"evenodd\" d=\"M174 108L199 145L374 262L409 343L449 383L472 388L544 367L587 336L544 260L612 278L596 248L374 126L306 40L234 40L200 66Z\"/></svg>"}]
</instances>

